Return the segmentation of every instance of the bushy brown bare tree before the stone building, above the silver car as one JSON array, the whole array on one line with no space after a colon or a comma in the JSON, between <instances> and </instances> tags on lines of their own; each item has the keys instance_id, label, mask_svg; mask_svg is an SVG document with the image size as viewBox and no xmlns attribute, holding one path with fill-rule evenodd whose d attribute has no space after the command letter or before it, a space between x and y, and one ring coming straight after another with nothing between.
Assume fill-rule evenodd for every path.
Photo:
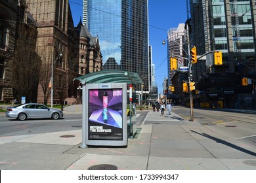
<instances>
[{"instance_id":1,"label":"bushy brown bare tree before the stone building, above the silver car","mask_svg":"<svg viewBox=\"0 0 256 183\"><path fill-rule=\"evenodd\" d=\"M14 96L26 102L36 101L41 59L35 52L37 31L27 24L18 24L14 55L10 61Z\"/></svg>"}]
</instances>

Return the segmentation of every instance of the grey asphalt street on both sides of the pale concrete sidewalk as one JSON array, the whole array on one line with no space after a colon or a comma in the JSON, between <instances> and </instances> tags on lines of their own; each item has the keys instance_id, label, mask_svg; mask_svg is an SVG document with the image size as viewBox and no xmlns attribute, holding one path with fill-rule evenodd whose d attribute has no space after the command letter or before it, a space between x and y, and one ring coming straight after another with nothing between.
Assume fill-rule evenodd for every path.
<instances>
[{"instance_id":1,"label":"grey asphalt street on both sides of the pale concrete sidewalk","mask_svg":"<svg viewBox=\"0 0 256 183\"><path fill-rule=\"evenodd\" d=\"M190 120L190 108L174 106L173 112L178 114L179 117L167 118L169 120ZM167 111L165 111L166 113ZM137 125L145 124L144 119L148 111L137 111ZM256 114L245 114L238 112L224 112L218 110L205 110L193 109L194 121L199 122L201 125L217 131L232 139L240 139L242 141L250 142L255 145L256 143ZM64 118L60 120L26 120L18 121L5 117L0 114L0 135L4 136L8 133L16 135L28 135L33 133L51 133L58 131L71 131L81 128L81 115L82 114L65 114ZM146 124L158 124L156 120L150 122L147 120ZM193 122L192 122L193 123Z\"/></svg>"}]
</instances>

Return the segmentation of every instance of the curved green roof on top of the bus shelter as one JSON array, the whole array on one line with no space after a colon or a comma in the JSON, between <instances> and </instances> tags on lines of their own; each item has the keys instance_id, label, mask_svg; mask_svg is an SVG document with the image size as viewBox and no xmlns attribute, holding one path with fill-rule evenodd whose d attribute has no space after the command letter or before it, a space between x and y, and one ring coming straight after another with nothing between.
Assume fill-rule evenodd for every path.
<instances>
[{"instance_id":1,"label":"curved green roof on top of the bus shelter","mask_svg":"<svg viewBox=\"0 0 256 183\"><path fill-rule=\"evenodd\" d=\"M132 83L142 84L142 79L137 73L129 71L98 71L75 78L83 84L88 83Z\"/></svg>"}]
</instances>

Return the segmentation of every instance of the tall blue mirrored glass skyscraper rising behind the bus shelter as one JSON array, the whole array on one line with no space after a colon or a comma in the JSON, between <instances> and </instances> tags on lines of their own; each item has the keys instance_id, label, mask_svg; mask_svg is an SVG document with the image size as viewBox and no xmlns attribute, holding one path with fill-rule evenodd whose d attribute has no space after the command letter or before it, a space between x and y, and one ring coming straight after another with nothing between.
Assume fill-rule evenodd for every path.
<instances>
[{"instance_id":1,"label":"tall blue mirrored glass skyscraper rising behind the bus shelter","mask_svg":"<svg viewBox=\"0 0 256 183\"><path fill-rule=\"evenodd\" d=\"M83 5L83 22L100 42L103 70L138 73L148 91L148 0L84 0Z\"/></svg>"}]
</instances>

